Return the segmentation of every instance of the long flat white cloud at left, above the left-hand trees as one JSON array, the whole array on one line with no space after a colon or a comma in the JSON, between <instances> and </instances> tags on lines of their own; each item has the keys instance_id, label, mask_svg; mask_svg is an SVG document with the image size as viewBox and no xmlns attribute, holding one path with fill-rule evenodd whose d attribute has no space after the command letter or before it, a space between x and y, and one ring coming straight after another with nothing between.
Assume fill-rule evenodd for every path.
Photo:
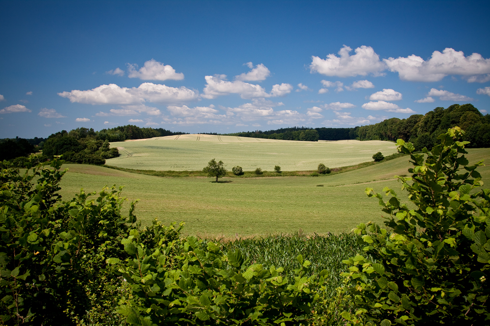
<instances>
[{"instance_id":1,"label":"long flat white cloud at left, above the left-hand trees","mask_svg":"<svg viewBox=\"0 0 490 326\"><path fill-rule=\"evenodd\" d=\"M58 93L72 103L131 105L148 101L175 103L196 100L198 92L186 87L168 87L161 84L143 83L138 88L119 87L116 84L101 85L90 90L72 90Z\"/></svg>"}]
</instances>

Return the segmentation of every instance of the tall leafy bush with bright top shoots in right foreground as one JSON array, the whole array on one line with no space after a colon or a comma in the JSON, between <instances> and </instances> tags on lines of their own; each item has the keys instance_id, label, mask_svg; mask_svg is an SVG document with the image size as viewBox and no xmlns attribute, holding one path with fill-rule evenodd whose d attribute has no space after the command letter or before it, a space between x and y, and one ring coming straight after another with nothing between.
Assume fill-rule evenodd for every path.
<instances>
[{"instance_id":1,"label":"tall leafy bush with bright top shoots in right foreground","mask_svg":"<svg viewBox=\"0 0 490 326\"><path fill-rule=\"evenodd\" d=\"M383 189L391 196L387 202L366 189L389 214L385 224L393 233L372 223L355 229L374 260L357 255L345 261L347 291L361 317L344 312L344 318L374 325L488 324L490 190L477 192L482 162L467 166L462 136L457 127L439 136L440 145L423 150L425 162L411 143L398 140L414 165L412 176L398 178L415 209L389 188Z\"/></svg>"}]
</instances>

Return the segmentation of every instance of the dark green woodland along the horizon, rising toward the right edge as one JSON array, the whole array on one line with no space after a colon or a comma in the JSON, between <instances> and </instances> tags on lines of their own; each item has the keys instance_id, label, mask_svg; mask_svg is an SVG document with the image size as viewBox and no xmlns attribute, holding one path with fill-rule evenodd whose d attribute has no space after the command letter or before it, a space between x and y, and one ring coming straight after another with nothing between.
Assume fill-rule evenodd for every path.
<instances>
[{"instance_id":1,"label":"dark green woodland along the horizon, rising toward the right edge","mask_svg":"<svg viewBox=\"0 0 490 326\"><path fill-rule=\"evenodd\" d=\"M465 130L467 147L490 147L490 114L483 115L471 104L454 104L447 109L438 107L423 114L413 114L407 119L391 118L380 123L354 128L307 128L293 127L277 130L255 130L227 134L284 140L388 140L403 139L414 144L417 151L431 149L437 137L447 129L459 126Z\"/></svg>"}]
</instances>

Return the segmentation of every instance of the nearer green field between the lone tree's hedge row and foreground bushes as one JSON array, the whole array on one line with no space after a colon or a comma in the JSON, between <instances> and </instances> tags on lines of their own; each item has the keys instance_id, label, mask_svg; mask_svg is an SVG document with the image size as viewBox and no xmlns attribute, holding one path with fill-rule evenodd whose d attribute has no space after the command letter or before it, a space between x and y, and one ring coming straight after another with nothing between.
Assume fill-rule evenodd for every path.
<instances>
[{"instance_id":1,"label":"nearer green field between the lone tree's hedge row and foreground bushes","mask_svg":"<svg viewBox=\"0 0 490 326\"><path fill-rule=\"evenodd\" d=\"M468 152L470 163L490 162L489 149ZM105 185L123 185L124 196L140 199L136 213L144 224L154 218L165 224L185 221L184 233L201 237L265 236L299 229L308 234L340 233L359 222L382 223L384 213L377 200L368 198L364 191L371 187L381 192L389 186L402 194L401 184L393 176L408 174L408 160L405 156L319 177L224 177L222 183L205 177L157 177L66 164L63 168L69 172L61 186L64 199L68 199L80 188L88 192ZM490 180L489 166L479 171L484 181Z\"/></svg>"}]
</instances>

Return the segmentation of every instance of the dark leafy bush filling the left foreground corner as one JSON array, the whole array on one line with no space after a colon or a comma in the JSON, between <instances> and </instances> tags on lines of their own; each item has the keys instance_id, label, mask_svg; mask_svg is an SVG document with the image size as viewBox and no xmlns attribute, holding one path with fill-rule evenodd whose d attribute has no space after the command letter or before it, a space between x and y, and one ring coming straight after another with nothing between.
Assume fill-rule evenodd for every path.
<instances>
[{"instance_id":1,"label":"dark leafy bush filling the left foreground corner","mask_svg":"<svg viewBox=\"0 0 490 326\"><path fill-rule=\"evenodd\" d=\"M107 257L126 257L121 239L135 221L121 216L121 189L61 202L66 171L52 161L20 173L0 163L0 324L65 325L95 305L111 313L120 281ZM92 300L97 298L97 301ZM112 304L113 305L113 304Z\"/></svg>"}]
</instances>

